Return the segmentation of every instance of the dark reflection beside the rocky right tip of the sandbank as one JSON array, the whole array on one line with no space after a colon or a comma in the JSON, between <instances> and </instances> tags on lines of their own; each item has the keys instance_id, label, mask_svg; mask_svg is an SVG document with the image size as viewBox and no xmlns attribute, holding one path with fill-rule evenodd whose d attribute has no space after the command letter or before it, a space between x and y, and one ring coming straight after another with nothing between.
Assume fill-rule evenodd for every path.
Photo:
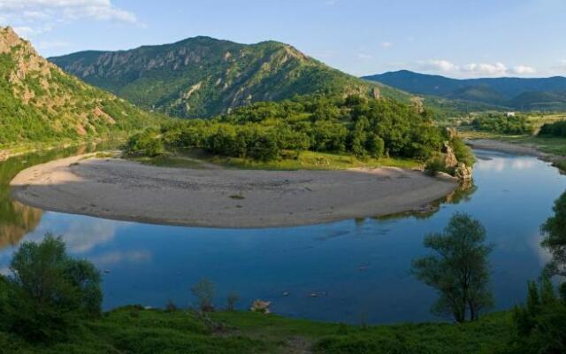
<instances>
[{"instance_id":1,"label":"dark reflection beside the rocky right tip of the sandbank","mask_svg":"<svg viewBox=\"0 0 566 354\"><path fill-rule=\"evenodd\" d=\"M478 189L474 184L473 180L462 181L460 186L455 189L452 193L444 198L432 202L431 204L424 205L418 210L413 210L409 212L397 212L394 214L389 214L385 216L375 217L376 220L394 220L394 219L404 219L408 217L414 217L415 219L429 219L436 212L440 211L441 204L459 204L462 202L467 202L470 200L471 195Z\"/></svg>"}]
</instances>

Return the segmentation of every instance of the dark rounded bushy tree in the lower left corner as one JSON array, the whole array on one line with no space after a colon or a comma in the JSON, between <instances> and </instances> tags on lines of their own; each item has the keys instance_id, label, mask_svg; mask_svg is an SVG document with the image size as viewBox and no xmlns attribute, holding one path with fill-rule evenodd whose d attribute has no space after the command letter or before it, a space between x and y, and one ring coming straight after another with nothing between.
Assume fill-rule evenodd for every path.
<instances>
[{"instance_id":1,"label":"dark rounded bushy tree in the lower left corner","mask_svg":"<svg viewBox=\"0 0 566 354\"><path fill-rule=\"evenodd\" d=\"M101 312L100 273L88 261L70 258L60 237L23 242L10 269L7 322L29 340L65 336L79 319Z\"/></svg>"}]
</instances>

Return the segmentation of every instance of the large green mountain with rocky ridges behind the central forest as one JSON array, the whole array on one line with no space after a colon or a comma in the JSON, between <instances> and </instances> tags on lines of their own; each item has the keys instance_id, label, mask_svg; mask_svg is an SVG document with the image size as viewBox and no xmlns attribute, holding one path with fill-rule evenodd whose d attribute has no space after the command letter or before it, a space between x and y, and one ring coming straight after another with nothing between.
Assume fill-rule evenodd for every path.
<instances>
[{"instance_id":1,"label":"large green mountain with rocky ridges behind the central forest","mask_svg":"<svg viewBox=\"0 0 566 354\"><path fill-rule=\"evenodd\" d=\"M199 36L134 50L82 51L50 61L143 108L184 118L316 93L410 99L272 41L240 44Z\"/></svg>"}]
</instances>

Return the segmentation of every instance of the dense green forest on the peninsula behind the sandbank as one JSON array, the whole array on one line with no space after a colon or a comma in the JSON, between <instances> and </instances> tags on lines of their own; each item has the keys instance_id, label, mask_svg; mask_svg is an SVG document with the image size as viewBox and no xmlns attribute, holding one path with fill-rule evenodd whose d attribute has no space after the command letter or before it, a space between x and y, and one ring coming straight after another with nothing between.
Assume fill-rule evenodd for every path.
<instances>
[{"instance_id":1,"label":"dense green forest on the peninsula behind the sandbank","mask_svg":"<svg viewBox=\"0 0 566 354\"><path fill-rule=\"evenodd\" d=\"M302 96L251 104L214 119L175 120L160 130L134 135L126 152L155 156L164 150L196 148L269 161L311 150L424 162L439 155L447 141L458 146L456 158L470 165L471 154L459 139L415 106L360 96Z\"/></svg>"}]
</instances>

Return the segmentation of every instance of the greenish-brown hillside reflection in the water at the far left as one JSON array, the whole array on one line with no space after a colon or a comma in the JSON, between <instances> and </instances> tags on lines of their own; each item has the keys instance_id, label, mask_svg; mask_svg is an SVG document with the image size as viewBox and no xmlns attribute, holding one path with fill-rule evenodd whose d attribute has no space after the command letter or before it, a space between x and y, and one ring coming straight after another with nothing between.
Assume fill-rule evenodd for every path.
<instances>
[{"instance_id":1,"label":"greenish-brown hillside reflection in the water at the far left","mask_svg":"<svg viewBox=\"0 0 566 354\"><path fill-rule=\"evenodd\" d=\"M0 250L16 245L34 231L42 219L42 210L11 199L10 181L27 167L57 158L66 158L96 150L95 145L84 145L60 150L34 152L0 162Z\"/></svg>"}]
</instances>

